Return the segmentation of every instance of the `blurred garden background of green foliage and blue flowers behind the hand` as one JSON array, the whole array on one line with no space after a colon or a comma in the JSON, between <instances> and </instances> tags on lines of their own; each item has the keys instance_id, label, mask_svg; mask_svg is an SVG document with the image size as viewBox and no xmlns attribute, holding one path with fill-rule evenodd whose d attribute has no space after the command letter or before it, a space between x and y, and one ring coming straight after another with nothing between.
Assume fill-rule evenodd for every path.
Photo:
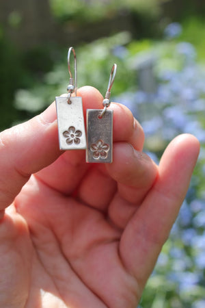
<instances>
[{"instance_id":1,"label":"blurred garden background of green foliage and blue flowers behind the hand","mask_svg":"<svg viewBox=\"0 0 205 308\"><path fill-rule=\"evenodd\" d=\"M141 308L205 307L204 17L203 0L0 0L1 130L66 92L73 46L79 87L105 94L118 64L112 100L133 111L156 162L178 133L202 144Z\"/></svg>"}]
</instances>

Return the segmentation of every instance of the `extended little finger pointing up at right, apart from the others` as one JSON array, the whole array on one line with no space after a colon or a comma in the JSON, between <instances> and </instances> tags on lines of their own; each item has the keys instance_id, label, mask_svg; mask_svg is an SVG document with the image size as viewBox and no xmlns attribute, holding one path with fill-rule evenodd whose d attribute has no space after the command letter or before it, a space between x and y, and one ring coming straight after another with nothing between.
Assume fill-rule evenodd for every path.
<instances>
[{"instance_id":1,"label":"extended little finger pointing up at right, apart from the others","mask_svg":"<svg viewBox=\"0 0 205 308\"><path fill-rule=\"evenodd\" d=\"M141 290L176 220L199 151L198 140L188 134L178 136L169 144L161 159L156 183L122 234L122 261L138 279Z\"/></svg>"}]
</instances>

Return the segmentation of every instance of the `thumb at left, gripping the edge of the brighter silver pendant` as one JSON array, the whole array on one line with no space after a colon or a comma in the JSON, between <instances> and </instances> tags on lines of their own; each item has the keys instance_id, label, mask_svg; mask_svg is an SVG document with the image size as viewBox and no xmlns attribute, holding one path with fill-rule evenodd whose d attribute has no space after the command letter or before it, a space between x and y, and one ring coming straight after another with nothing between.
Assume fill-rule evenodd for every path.
<instances>
[{"instance_id":1,"label":"thumb at left, gripping the edge of the brighter silver pendant","mask_svg":"<svg viewBox=\"0 0 205 308\"><path fill-rule=\"evenodd\" d=\"M0 133L0 218L30 175L60 155L55 104Z\"/></svg>"}]
</instances>

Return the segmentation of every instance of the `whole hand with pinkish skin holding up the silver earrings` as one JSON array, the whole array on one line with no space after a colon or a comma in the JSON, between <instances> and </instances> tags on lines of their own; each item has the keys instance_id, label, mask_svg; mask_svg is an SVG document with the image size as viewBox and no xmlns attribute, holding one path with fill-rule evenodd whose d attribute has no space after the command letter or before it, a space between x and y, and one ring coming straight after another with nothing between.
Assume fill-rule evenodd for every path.
<instances>
[{"instance_id":1,"label":"whole hand with pinkish skin holding up the silver earrings","mask_svg":"<svg viewBox=\"0 0 205 308\"><path fill-rule=\"evenodd\" d=\"M79 89L102 108L94 88ZM55 104L0 134L0 307L136 307L200 151L175 138L159 166L143 130L112 103L113 164L59 151ZM4 213L5 209L5 213Z\"/></svg>"}]
</instances>

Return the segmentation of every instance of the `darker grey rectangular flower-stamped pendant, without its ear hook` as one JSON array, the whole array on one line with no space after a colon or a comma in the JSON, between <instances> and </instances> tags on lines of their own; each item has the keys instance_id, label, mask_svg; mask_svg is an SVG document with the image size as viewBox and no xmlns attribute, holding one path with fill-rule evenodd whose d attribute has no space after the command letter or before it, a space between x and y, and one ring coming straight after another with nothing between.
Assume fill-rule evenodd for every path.
<instances>
[{"instance_id":1,"label":"darker grey rectangular flower-stamped pendant, without its ear hook","mask_svg":"<svg viewBox=\"0 0 205 308\"><path fill-rule=\"evenodd\" d=\"M86 162L111 163L113 161L113 110L87 110Z\"/></svg>"}]
</instances>

